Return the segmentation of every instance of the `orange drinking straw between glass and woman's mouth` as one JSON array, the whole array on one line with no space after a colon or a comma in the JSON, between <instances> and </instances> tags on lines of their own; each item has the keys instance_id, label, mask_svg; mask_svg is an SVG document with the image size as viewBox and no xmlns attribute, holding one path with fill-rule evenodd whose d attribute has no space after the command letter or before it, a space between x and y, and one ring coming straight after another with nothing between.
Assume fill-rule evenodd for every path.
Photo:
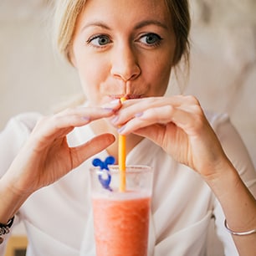
<instances>
[{"instance_id":1,"label":"orange drinking straw between glass and woman's mouth","mask_svg":"<svg viewBox=\"0 0 256 256\"><path fill-rule=\"evenodd\" d=\"M123 103L126 99L120 98L120 102ZM125 182L125 136L118 136L118 164L120 171L120 192L125 192L126 182Z\"/></svg>"}]
</instances>

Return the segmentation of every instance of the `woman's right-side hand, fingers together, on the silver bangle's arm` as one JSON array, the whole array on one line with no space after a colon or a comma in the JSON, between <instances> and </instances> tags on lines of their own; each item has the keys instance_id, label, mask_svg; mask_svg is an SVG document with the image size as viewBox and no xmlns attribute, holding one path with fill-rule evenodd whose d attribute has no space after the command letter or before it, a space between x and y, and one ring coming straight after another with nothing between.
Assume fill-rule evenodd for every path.
<instances>
[{"instance_id":1,"label":"woman's right-side hand, fingers together, on the silver bangle's arm","mask_svg":"<svg viewBox=\"0 0 256 256\"><path fill-rule=\"evenodd\" d=\"M197 99L172 96L126 100L112 119L123 135L135 133L161 146L202 176L215 175L227 160Z\"/></svg>"}]
</instances>

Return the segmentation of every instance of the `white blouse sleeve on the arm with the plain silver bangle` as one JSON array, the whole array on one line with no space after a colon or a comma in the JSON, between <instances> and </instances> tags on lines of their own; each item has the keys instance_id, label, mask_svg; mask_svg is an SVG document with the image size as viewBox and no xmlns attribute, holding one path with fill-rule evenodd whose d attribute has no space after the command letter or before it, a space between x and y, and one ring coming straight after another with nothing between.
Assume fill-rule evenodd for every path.
<instances>
[{"instance_id":1,"label":"white blouse sleeve on the arm with the plain silver bangle","mask_svg":"<svg viewBox=\"0 0 256 256\"><path fill-rule=\"evenodd\" d=\"M228 115L218 115L212 122L213 129L216 131L222 143L223 150L227 154L233 166L238 171L243 182L246 184L253 196L256 197L256 172L253 162L248 155L248 151L243 144L241 137L231 124ZM218 200L214 208L215 225L218 238L223 242L225 255L238 255L233 243L232 236L224 228L224 215Z\"/></svg>"}]
</instances>

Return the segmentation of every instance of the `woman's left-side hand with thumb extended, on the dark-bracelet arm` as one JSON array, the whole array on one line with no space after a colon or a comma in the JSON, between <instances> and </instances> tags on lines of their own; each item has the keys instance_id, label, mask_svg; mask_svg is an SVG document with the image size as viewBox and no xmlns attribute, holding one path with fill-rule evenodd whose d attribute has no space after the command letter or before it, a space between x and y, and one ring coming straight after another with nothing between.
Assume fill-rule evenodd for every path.
<instances>
[{"instance_id":1,"label":"woman's left-side hand with thumb extended, on the dark-bracelet arm","mask_svg":"<svg viewBox=\"0 0 256 256\"><path fill-rule=\"evenodd\" d=\"M39 120L7 172L10 188L29 195L64 177L87 158L110 146L115 141L110 134L96 136L75 147L69 147L66 136L74 127L110 117L119 108L120 102L111 105L111 109L74 108Z\"/></svg>"}]
</instances>

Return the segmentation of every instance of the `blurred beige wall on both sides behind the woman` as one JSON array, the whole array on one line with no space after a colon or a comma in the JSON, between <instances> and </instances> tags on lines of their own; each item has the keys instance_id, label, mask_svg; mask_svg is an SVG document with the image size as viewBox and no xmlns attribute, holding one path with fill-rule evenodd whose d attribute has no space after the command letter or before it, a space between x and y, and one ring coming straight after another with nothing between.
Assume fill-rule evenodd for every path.
<instances>
[{"instance_id":1,"label":"blurred beige wall on both sides behind the woman","mask_svg":"<svg viewBox=\"0 0 256 256\"><path fill-rule=\"evenodd\" d=\"M0 130L23 111L48 114L80 100L75 70L52 47L52 1L0 0ZM185 94L227 112L256 166L256 1L190 3L190 77L172 78L168 94L187 82Z\"/></svg>"}]
</instances>

